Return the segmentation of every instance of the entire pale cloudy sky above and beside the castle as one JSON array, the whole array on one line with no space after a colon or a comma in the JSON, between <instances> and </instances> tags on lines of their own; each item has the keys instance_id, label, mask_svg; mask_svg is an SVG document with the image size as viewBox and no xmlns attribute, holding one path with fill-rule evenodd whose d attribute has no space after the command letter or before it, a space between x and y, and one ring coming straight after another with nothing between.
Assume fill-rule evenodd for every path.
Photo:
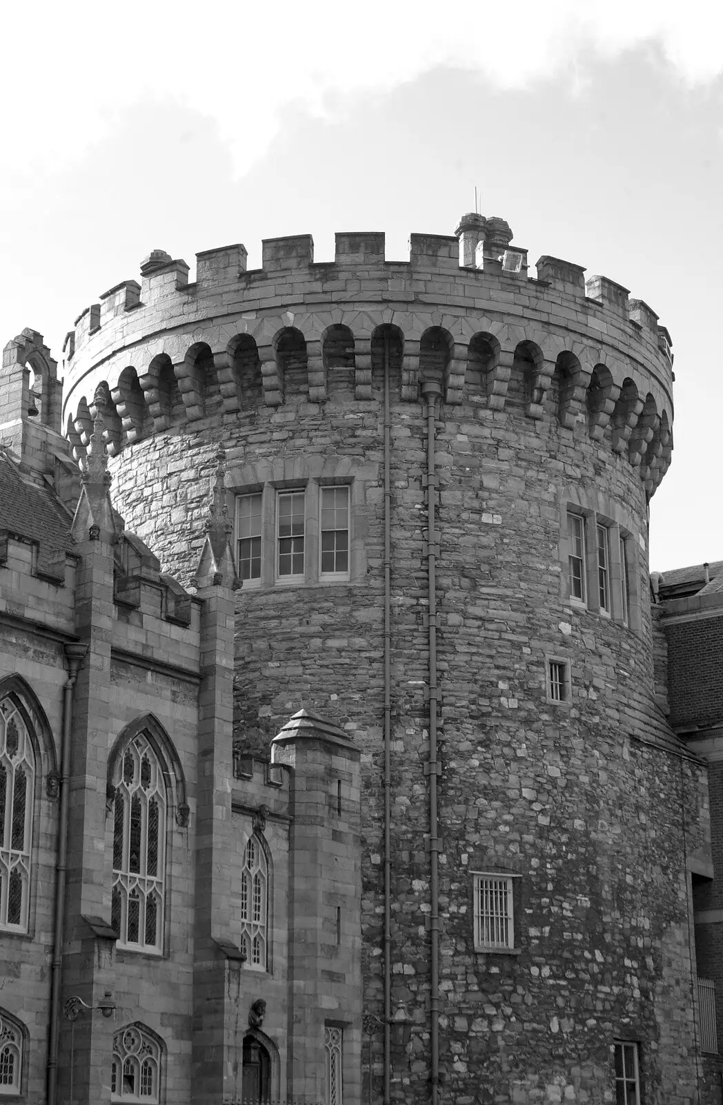
<instances>
[{"instance_id":1,"label":"entire pale cloudy sky above and beside the castle","mask_svg":"<svg viewBox=\"0 0 723 1105\"><path fill-rule=\"evenodd\" d=\"M651 567L723 559L723 4L447 0L138 7L0 17L0 343L56 358L156 248L183 256L337 230L451 233L481 190L530 250L660 315L676 352L673 464Z\"/></svg>"}]
</instances>

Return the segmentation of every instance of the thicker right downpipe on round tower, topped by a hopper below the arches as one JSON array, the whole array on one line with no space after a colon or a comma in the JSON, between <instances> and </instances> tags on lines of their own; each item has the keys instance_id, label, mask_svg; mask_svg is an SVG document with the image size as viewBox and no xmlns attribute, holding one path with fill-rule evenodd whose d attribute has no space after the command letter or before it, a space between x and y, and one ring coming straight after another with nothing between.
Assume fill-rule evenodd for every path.
<instances>
[{"instance_id":1,"label":"thicker right downpipe on round tower, topped by a hopper below the arches","mask_svg":"<svg viewBox=\"0 0 723 1105\"><path fill-rule=\"evenodd\" d=\"M435 469L435 404L442 388L435 380L422 385L427 418L427 578L429 623L429 1043L432 1105L439 1097L439 838L437 817L437 535L435 509L438 478Z\"/></svg>"}]
</instances>

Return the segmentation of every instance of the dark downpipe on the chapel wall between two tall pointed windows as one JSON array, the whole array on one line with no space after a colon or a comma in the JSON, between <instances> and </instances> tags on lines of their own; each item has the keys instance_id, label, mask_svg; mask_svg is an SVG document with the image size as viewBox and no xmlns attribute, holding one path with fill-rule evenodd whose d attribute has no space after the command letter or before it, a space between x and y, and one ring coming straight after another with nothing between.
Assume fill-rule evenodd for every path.
<instances>
[{"instance_id":1,"label":"dark downpipe on the chapel wall between two tall pointed windows","mask_svg":"<svg viewBox=\"0 0 723 1105\"><path fill-rule=\"evenodd\" d=\"M65 645L67 681L63 686L63 728L61 733L61 786L57 823L57 862L55 864L55 903L53 924L53 961L51 965L50 1027L47 1043L47 1105L57 1101L57 1051L61 1028L61 969L65 922L65 873L67 867L67 781L71 774L71 729L73 724L73 688L86 653L84 644Z\"/></svg>"}]
</instances>

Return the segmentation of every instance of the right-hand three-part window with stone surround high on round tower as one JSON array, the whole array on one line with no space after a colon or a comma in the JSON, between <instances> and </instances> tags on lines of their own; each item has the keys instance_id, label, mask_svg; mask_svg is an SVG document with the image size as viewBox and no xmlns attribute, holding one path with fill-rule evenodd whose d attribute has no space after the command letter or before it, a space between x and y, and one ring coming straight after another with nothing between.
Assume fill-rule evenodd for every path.
<instances>
[{"instance_id":1,"label":"right-hand three-part window with stone surround high on round tower","mask_svg":"<svg viewBox=\"0 0 723 1105\"><path fill-rule=\"evenodd\" d=\"M585 527L585 599L584 601L570 593L568 560L571 539L568 530L568 514L583 518ZM607 530L608 545L608 593L609 610L602 610L598 589L598 554L597 526ZM625 564L620 546L625 547ZM620 625L627 625L635 633L641 631L641 594L639 586L639 555L645 549L645 539L637 532L630 511L609 496L602 495L596 490L581 486L568 486L561 495L560 511L560 546L559 555L562 566L561 591L564 602L575 610L587 610L602 618L609 619ZM624 571L627 567L627 589Z\"/></svg>"}]
</instances>

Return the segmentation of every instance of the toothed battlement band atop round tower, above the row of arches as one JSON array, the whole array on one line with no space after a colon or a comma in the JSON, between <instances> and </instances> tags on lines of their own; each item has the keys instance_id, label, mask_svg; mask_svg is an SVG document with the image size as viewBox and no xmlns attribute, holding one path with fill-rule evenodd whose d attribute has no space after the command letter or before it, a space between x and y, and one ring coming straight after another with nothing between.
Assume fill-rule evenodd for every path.
<instances>
[{"instance_id":1,"label":"toothed battlement band atop round tower, above the row of arches","mask_svg":"<svg viewBox=\"0 0 723 1105\"><path fill-rule=\"evenodd\" d=\"M123 281L105 292L99 303L86 307L67 335L63 351L68 364L82 349L84 352L87 349L97 362L96 354L104 356L110 347L117 348L118 338L132 339L151 327L157 329L158 312L163 313L167 328L174 320L188 323L195 318L201 323L211 315L219 318L264 309L264 301L276 296L278 302L279 294L298 309L297 304L308 302L311 295L327 294L329 282L341 288L341 281L350 271L364 281L365 287L378 277L380 292L387 302L393 298L389 293L398 288L400 278L407 280L408 292L415 295L416 282L424 284L418 294L428 302L430 273L439 280L454 280L457 287L445 287L445 295L457 294L461 303L470 297L493 301L496 291L502 301L509 299L510 293L514 295L515 290L527 297L531 292L527 250L511 242L512 231L503 219L468 213L454 235L412 234L407 262L385 260L383 233L350 231L336 235L334 260L319 264L315 263L311 235L296 234L265 239L259 270L246 269L246 249L241 243L203 251L196 254L196 280L192 284L188 282L189 266L183 260L153 250L140 266L141 283ZM554 303L560 303L563 296L571 301L571 307L584 304L588 313L597 309L616 318L630 328L636 340L649 346L648 352L656 350L661 359L667 359L669 368L669 335L660 333L657 316L647 304L641 299L628 301L627 290L606 276L594 275L585 283L584 273L581 265L544 254L536 263L534 294L541 299L550 295ZM274 288L277 276L284 277L283 292ZM301 287L302 283L315 281L318 287L313 291ZM385 281L386 286L382 286ZM331 288L328 298L333 305ZM376 297L371 294L369 298L373 302ZM146 322L145 316L148 316Z\"/></svg>"}]
</instances>

